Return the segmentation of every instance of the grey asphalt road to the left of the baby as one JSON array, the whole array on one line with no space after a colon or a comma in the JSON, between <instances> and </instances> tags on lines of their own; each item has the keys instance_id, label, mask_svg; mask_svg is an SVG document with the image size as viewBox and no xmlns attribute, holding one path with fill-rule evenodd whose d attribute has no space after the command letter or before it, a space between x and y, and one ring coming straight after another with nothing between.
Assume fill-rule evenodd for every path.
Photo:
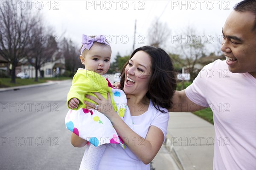
<instances>
[{"instance_id":1,"label":"grey asphalt road to the left of the baby","mask_svg":"<svg viewBox=\"0 0 256 170\"><path fill-rule=\"evenodd\" d=\"M70 81L0 92L0 169L79 169L84 148L65 128Z\"/></svg>"}]
</instances>

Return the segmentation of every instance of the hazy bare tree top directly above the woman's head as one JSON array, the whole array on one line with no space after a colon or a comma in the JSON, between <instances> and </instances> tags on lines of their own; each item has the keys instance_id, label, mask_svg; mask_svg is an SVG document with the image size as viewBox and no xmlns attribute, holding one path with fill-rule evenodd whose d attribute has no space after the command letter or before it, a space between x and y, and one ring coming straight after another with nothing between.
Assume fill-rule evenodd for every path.
<instances>
[{"instance_id":1,"label":"hazy bare tree top directly above the woman's head","mask_svg":"<svg viewBox=\"0 0 256 170\"><path fill-rule=\"evenodd\" d=\"M155 19L148 29L148 38L150 46L164 46L171 34L171 30L166 23L161 23Z\"/></svg>"}]
</instances>

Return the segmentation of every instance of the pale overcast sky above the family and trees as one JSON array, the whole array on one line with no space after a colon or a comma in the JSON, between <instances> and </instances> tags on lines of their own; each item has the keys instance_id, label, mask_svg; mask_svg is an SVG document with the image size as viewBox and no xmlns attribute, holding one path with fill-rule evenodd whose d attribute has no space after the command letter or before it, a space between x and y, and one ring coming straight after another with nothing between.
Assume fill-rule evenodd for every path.
<instances>
[{"instance_id":1,"label":"pale overcast sky above the family and trees","mask_svg":"<svg viewBox=\"0 0 256 170\"><path fill-rule=\"evenodd\" d=\"M175 52L180 31L193 26L200 37L217 37L233 6L240 0L46 0L32 3L55 34L71 38L78 49L81 36L106 35L111 41L112 57L130 55L135 48L148 45L148 29L153 20L166 23L171 29L169 43L163 48ZM43 5L43 6L42 6ZM137 30L134 36L134 23ZM186 38L186 37L183 37ZM220 37L219 37L220 38ZM208 45L216 49L215 38ZM188 39L188 38L187 38ZM184 41L186 41L184 39ZM215 47L213 47L215 46Z\"/></svg>"}]
</instances>

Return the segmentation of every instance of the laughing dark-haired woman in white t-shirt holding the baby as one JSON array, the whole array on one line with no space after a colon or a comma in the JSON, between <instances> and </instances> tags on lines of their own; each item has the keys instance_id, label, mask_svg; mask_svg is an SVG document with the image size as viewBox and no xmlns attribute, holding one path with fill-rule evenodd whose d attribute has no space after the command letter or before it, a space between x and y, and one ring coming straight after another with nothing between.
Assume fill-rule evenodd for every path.
<instances>
[{"instance_id":1,"label":"laughing dark-haired woman in white t-shirt holding the baby","mask_svg":"<svg viewBox=\"0 0 256 170\"><path fill-rule=\"evenodd\" d=\"M149 163L166 138L169 120L167 109L172 108L175 78L172 60L163 49L143 46L131 54L122 69L120 83L127 95L127 109L131 112L133 129L115 113L109 94L108 100L99 93L94 93L97 98L86 95L86 98L96 103L84 101L87 109L97 107L97 110L105 114L125 144L125 149L119 145L109 145L99 169L150 169ZM73 133L71 143L75 147L83 147L87 141ZM86 148L85 153L90 151L90 147ZM83 160L80 169L86 164Z\"/></svg>"}]
</instances>

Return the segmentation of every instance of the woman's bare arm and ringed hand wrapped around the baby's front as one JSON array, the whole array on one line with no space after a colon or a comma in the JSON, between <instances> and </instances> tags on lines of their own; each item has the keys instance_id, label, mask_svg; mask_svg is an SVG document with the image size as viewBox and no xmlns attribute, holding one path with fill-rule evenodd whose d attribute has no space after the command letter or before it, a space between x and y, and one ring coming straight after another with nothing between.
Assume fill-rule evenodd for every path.
<instances>
[{"instance_id":1,"label":"woman's bare arm and ringed hand wrapped around the baby's front","mask_svg":"<svg viewBox=\"0 0 256 170\"><path fill-rule=\"evenodd\" d=\"M129 147L129 149L141 160L144 164L149 164L153 158L157 155L160 147L163 144L164 135L163 132L158 128L151 126L149 127L148 133L145 138L135 133L128 127L127 124L114 112L110 95L108 94L108 101L102 97L99 93L94 93L98 98L86 95L86 98L90 98L98 104L97 110L106 115L112 122L116 132L122 138L122 141ZM88 103L87 109L94 109L96 105ZM90 106L90 107L89 107ZM108 107L104 107L108 106Z\"/></svg>"}]
</instances>

